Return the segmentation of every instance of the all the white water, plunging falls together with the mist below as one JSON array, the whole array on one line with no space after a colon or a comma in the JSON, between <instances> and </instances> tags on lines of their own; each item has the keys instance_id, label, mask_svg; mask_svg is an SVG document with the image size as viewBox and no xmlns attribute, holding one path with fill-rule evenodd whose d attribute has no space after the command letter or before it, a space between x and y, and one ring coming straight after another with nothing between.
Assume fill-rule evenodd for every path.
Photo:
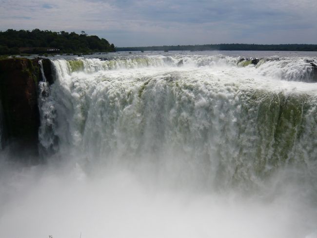
<instances>
[{"instance_id":1,"label":"all the white water, plunging falls together with the mist below","mask_svg":"<svg viewBox=\"0 0 317 238\"><path fill-rule=\"evenodd\" d=\"M55 60L39 99L47 164L3 162L0 237L316 237L304 60Z\"/></svg>"}]
</instances>

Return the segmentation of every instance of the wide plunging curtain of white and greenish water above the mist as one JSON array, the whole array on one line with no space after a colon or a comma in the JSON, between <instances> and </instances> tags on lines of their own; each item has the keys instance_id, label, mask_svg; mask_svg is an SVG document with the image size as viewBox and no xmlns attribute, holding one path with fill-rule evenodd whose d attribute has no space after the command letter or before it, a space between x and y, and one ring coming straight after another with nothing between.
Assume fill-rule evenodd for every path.
<instances>
[{"instance_id":1,"label":"wide plunging curtain of white and greenish water above the mist","mask_svg":"<svg viewBox=\"0 0 317 238\"><path fill-rule=\"evenodd\" d=\"M237 63L219 56L54 60L40 143L48 148L57 139L60 151L105 164L163 164L184 183L206 186L260 186L287 166L315 179L315 84L285 84L262 65Z\"/></svg>"}]
</instances>

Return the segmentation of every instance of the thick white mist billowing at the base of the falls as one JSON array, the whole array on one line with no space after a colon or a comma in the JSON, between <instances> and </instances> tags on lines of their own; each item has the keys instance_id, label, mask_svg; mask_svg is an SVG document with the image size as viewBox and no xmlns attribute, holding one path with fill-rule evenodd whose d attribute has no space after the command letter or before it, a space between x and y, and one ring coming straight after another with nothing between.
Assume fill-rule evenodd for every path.
<instances>
[{"instance_id":1,"label":"thick white mist billowing at the base of the falls","mask_svg":"<svg viewBox=\"0 0 317 238\"><path fill-rule=\"evenodd\" d=\"M316 203L299 184L274 184L282 175L245 194L119 165L1 162L1 237L316 237Z\"/></svg>"}]
</instances>

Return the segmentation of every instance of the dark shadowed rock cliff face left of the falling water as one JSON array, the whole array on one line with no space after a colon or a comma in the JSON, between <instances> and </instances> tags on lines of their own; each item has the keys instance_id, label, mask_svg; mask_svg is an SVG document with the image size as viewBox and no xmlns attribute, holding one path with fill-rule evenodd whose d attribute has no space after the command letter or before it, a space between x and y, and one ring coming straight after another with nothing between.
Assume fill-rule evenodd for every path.
<instances>
[{"instance_id":1,"label":"dark shadowed rock cliff face left of the falling water","mask_svg":"<svg viewBox=\"0 0 317 238\"><path fill-rule=\"evenodd\" d=\"M0 61L1 144L16 154L38 153L38 60Z\"/></svg>"}]
</instances>

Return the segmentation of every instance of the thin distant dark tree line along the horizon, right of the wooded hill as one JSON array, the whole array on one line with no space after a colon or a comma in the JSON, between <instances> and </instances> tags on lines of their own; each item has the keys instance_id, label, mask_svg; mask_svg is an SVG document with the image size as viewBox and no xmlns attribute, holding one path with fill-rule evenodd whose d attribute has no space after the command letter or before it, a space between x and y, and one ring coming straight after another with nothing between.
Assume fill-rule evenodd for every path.
<instances>
[{"instance_id":1,"label":"thin distant dark tree line along the horizon, right of the wooded hill","mask_svg":"<svg viewBox=\"0 0 317 238\"><path fill-rule=\"evenodd\" d=\"M163 45L146 47L117 47L117 51L169 51L169 50L261 50L261 51L317 51L317 44L203 44Z\"/></svg>"}]
</instances>

